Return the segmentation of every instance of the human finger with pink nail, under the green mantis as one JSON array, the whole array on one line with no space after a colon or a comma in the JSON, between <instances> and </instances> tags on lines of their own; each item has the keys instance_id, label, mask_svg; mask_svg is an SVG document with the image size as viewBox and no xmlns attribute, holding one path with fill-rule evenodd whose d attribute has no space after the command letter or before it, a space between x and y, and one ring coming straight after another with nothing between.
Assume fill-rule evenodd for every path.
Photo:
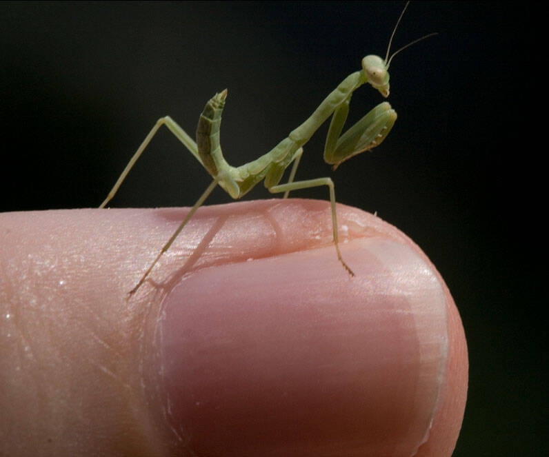
<instances>
[{"instance_id":1,"label":"human finger with pink nail, under the green mantis","mask_svg":"<svg viewBox=\"0 0 549 457\"><path fill-rule=\"evenodd\" d=\"M0 454L445 457L461 321L425 254L326 202L0 214Z\"/></svg>"}]
</instances>

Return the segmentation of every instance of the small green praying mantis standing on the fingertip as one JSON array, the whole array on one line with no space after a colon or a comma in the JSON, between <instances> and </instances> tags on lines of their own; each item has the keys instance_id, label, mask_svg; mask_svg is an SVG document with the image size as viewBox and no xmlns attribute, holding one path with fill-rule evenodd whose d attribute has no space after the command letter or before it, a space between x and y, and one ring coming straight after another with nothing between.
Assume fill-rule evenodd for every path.
<instances>
[{"instance_id":1,"label":"small green praying mantis standing on the fingertip","mask_svg":"<svg viewBox=\"0 0 549 457\"><path fill-rule=\"evenodd\" d=\"M408 2L409 3L409 2ZM343 261L341 252L339 251L339 241L337 236L337 214L335 205L335 189L332 179L329 177L308 179L306 181L294 181L295 173L301 155L303 154L303 145L307 143L310 137L320 128L320 126L332 116L330 128L326 136L326 145L324 147L324 161L332 165L335 170L342 162L350 159L352 156L360 154L375 148L386 139L392 126L397 119L397 112L391 108L387 102L380 103L372 109L366 116L352 125L345 133L341 134L343 125L346 122L349 112L349 104L353 92L363 84L370 84L383 97L389 96L389 73L388 68L390 62L395 55L408 46L426 39L435 33L421 37L403 48L397 50L389 58L390 46L395 32L402 19L406 6L403 8L395 28L392 31L387 54L385 59L376 55L368 55L362 59L361 70L350 74L346 79L333 90L326 99L319 105L310 117L303 122L295 130L292 130L288 137L278 143L272 150L263 154L258 159L245 163L239 167L233 167L223 157L221 145L219 144L219 128L221 124L221 113L226 102L227 90L223 90L215 94L212 99L206 103L206 106L200 115L196 142L170 117L164 116L154 124L152 130L143 140L132 159L126 165L119 179L112 187L107 198L101 203L99 208L106 207L109 201L114 197L120 185L141 156L141 153L150 143L154 134L161 127L166 127L172 132L183 145L191 152L191 154L203 165L213 178L212 183L208 185L206 190L200 196L198 201L188 212L177 230L172 234L168 242L162 247L159 254L148 267L145 274L129 292L131 296L139 287L143 285L150 272L157 265L161 256L170 248L181 230L188 223L190 218L197 212L198 208L206 201L212 190L219 185L225 190L232 199L240 199L246 195L254 185L263 181L267 190L271 193L283 192L283 198L287 198L292 190L306 189L308 187L319 187L322 185L328 186L330 190L330 205L332 210L332 236L337 253L337 258L341 265L350 276L354 276L351 268ZM292 170L288 182L279 184L286 168L292 164Z\"/></svg>"}]
</instances>

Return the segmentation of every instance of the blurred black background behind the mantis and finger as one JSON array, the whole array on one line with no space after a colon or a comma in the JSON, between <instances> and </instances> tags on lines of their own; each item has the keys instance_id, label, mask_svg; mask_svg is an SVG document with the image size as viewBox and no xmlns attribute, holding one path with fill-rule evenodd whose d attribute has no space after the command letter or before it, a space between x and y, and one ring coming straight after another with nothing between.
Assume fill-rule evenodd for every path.
<instances>
[{"instance_id":1,"label":"blurred black background behind the mantis and finger","mask_svg":"<svg viewBox=\"0 0 549 457\"><path fill-rule=\"evenodd\" d=\"M393 49L439 35L391 64L399 119L388 139L332 174L322 160L324 126L297 176L332 176L337 201L399 227L448 283L470 357L455 457L548 455L546 154L534 148L543 141L536 101L546 49L530 4L510 5L412 3ZM224 88L226 157L232 165L257 158L364 55L384 57L402 8L0 3L0 211L96 207L159 116L194 136L203 105ZM380 101L361 88L352 119ZM192 205L208 183L161 130L112 206ZM323 188L292 195L328 198ZM259 185L250 198L270 194ZM208 203L228 201L217 190Z\"/></svg>"}]
</instances>

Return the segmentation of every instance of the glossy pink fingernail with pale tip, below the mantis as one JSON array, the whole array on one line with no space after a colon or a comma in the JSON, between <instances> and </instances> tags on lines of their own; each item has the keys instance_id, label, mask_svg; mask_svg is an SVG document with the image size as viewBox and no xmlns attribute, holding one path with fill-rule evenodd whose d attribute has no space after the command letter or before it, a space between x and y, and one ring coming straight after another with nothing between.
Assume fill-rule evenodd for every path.
<instances>
[{"instance_id":1,"label":"glossy pink fingernail with pale tip, below the mantis","mask_svg":"<svg viewBox=\"0 0 549 457\"><path fill-rule=\"evenodd\" d=\"M444 383L446 298L385 236L204 268L163 303L164 411L200 456L412 456Z\"/></svg>"}]
</instances>

